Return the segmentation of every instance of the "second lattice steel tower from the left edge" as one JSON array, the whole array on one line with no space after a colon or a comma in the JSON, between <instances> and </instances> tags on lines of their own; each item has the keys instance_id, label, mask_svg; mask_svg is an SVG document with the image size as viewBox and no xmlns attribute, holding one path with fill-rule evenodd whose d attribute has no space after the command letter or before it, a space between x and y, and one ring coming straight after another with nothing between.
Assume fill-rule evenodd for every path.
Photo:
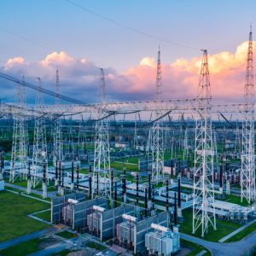
<instances>
[{"instance_id":1,"label":"second lattice steel tower from the left edge","mask_svg":"<svg viewBox=\"0 0 256 256\"><path fill-rule=\"evenodd\" d=\"M42 88L41 79L38 79L38 87ZM35 107L37 110L43 114L44 98L42 91L38 90L36 92L36 102ZM38 116L35 113L35 126L34 126L34 143L33 143L33 154L32 154L32 186L35 188L43 176L38 175L38 173L43 173L43 167L46 167L46 172L48 170L48 157L47 157L47 143L46 143L46 128L45 119L42 116ZM47 173L46 173L47 175Z\"/></svg>"}]
</instances>

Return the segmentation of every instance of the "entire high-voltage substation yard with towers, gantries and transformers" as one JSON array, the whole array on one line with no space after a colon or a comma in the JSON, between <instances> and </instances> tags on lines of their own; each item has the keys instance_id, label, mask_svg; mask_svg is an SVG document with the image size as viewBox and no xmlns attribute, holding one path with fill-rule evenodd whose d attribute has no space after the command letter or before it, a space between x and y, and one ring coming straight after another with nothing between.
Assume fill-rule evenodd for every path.
<instances>
[{"instance_id":1,"label":"entire high-voltage substation yard with towers, gantries and transformers","mask_svg":"<svg viewBox=\"0 0 256 256\"><path fill-rule=\"evenodd\" d=\"M171 255L183 251L185 235L228 241L256 217L252 32L240 103L212 103L201 52L197 94L188 99L164 99L160 49L150 101L108 102L102 68L96 104L61 95L59 70L55 92L40 78L29 84L0 73L16 84L15 103L0 108L0 188L39 191L51 200L51 224L115 250ZM55 104L44 104L44 94Z\"/></svg>"}]
</instances>

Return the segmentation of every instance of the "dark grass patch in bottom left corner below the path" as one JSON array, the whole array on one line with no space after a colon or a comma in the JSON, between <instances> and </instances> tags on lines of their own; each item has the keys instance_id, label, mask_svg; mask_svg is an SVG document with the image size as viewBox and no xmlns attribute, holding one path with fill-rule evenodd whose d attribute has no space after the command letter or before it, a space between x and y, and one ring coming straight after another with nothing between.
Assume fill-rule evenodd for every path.
<instances>
[{"instance_id":1,"label":"dark grass patch in bottom left corner below the path","mask_svg":"<svg viewBox=\"0 0 256 256\"><path fill-rule=\"evenodd\" d=\"M35 238L30 241L21 242L18 245L1 250L0 255L24 256L35 253L41 250L38 246L42 241L44 241L44 239Z\"/></svg>"}]
</instances>

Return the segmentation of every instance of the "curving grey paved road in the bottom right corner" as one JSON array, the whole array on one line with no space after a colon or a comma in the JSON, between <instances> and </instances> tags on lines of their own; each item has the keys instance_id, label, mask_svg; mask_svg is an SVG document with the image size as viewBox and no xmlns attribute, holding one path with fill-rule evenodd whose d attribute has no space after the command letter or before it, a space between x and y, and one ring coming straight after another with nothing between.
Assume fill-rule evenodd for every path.
<instances>
[{"instance_id":1,"label":"curving grey paved road in the bottom right corner","mask_svg":"<svg viewBox=\"0 0 256 256\"><path fill-rule=\"evenodd\" d=\"M205 241L201 238L189 236L183 233L180 233L180 235L184 240L192 241L206 247L213 256L240 256L242 253L246 253L250 248L256 245L256 231L241 241L227 243Z\"/></svg>"}]
</instances>

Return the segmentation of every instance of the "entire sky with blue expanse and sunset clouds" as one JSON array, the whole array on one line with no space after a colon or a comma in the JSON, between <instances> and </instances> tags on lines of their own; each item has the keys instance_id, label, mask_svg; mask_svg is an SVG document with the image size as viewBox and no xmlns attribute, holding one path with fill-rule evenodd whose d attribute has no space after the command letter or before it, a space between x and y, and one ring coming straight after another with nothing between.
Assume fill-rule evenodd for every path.
<instances>
[{"instance_id":1,"label":"entire sky with blue expanse and sunset clouds","mask_svg":"<svg viewBox=\"0 0 256 256\"><path fill-rule=\"evenodd\" d=\"M1 0L0 71L55 90L58 67L61 94L96 102L102 67L109 101L151 100L160 45L163 97L195 97L207 49L212 99L242 102L255 9L253 0ZM14 101L15 84L0 79L0 89Z\"/></svg>"}]
</instances>

